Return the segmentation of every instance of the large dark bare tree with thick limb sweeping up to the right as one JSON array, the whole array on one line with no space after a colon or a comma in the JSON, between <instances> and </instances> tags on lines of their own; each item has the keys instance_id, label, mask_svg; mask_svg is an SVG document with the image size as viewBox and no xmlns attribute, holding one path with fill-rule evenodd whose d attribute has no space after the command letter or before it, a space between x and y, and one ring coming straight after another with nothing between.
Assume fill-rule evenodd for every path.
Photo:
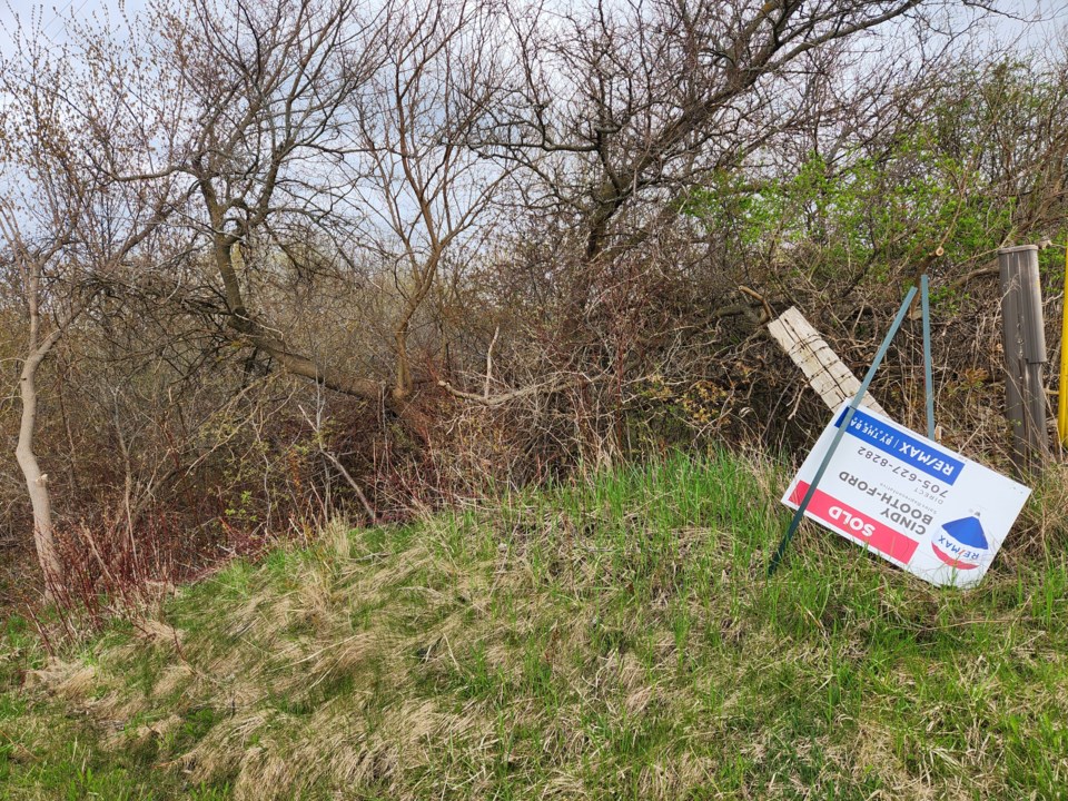
<instances>
[{"instance_id":1,"label":"large dark bare tree with thick limb sweeping up to the right","mask_svg":"<svg viewBox=\"0 0 1068 801\"><path fill-rule=\"evenodd\" d=\"M595 2L550 29L513 17L524 65L482 147L522 164L536 205L566 209L593 261L663 221L613 221L640 198L669 211L803 113L835 42L930 7L922 0ZM553 32L548 32L552 30ZM610 248L614 243L615 250Z\"/></svg>"}]
</instances>

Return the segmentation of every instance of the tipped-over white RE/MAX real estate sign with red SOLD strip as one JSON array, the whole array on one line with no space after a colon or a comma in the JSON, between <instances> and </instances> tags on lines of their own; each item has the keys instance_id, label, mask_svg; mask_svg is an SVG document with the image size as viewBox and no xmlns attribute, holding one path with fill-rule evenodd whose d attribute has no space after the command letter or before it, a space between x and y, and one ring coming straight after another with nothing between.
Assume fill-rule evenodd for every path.
<instances>
[{"instance_id":1,"label":"tipped-over white RE/MAX real estate sign with red SOLD strip","mask_svg":"<svg viewBox=\"0 0 1068 801\"><path fill-rule=\"evenodd\" d=\"M782 502L797 510L848 404ZM1030 490L870 409L857 409L805 516L932 584L986 574Z\"/></svg>"}]
</instances>

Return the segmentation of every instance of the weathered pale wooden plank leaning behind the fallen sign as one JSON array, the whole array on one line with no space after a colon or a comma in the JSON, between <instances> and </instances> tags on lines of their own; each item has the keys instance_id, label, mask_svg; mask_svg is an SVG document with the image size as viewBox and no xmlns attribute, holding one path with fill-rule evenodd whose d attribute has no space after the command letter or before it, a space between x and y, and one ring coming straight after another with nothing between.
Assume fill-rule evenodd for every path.
<instances>
[{"instance_id":1,"label":"weathered pale wooden plank leaning behind the fallen sign","mask_svg":"<svg viewBox=\"0 0 1068 801\"><path fill-rule=\"evenodd\" d=\"M768 324L768 332L793 363L801 368L815 393L830 408L837 409L851 400L860 389L860 382L849 367L831 350L831 346L809 325L804 316L791 306L778 319ZM867 393L860 405L881 415L886 409Z\"/></svg>"}]
</instances>

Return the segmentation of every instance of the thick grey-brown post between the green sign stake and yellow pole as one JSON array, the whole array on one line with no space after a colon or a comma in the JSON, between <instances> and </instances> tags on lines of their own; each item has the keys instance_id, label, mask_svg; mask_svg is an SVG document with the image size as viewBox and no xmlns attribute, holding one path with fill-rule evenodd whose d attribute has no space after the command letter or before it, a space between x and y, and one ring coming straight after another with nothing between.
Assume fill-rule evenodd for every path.
<instances>
[{"instance_id":1,"label":"thick grey-brown post between the green sign stake and yellow pole","mask_svg":"<svg viewBox=\"0 0 1068 801\"><path fill-rule=\"evenodd\" d=\"M1039 469L1049 455L1046 427L1046 328L1038 276L1038 246L998 250L1001 276L1006 416L1018 471Z\"/></svg>"}]
</instances>

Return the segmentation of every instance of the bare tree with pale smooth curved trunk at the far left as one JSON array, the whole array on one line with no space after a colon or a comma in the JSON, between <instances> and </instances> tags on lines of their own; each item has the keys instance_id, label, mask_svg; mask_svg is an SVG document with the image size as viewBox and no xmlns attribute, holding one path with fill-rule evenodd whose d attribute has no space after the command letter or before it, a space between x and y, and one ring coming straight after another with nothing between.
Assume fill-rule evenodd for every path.
<instances>
[{"instance_id":1,"label":"bare tree with pale smooth curved trunk at the far left","mask_svg":"<svg viewBox=\"0 0 1068 801\"><path fill-rule=\"evenodd\" d=\"M130 255L147 246L171 205L158 187L131 191L85 169L83 159L93 156L82 149L85 140L121 139L123 131L113 120L95 117L91 106L76 102L79 87L85 90L91 77L76 75L39 41L20 32L14 55L0 65L0 95L20 100L0 118L0 180L7 195L0 202L0 243L24 308L16 456L33 508L46 589L51 591L63 577L63 565L49 478L34 448L40 368Z\"/></svg>"}]
</instances>

